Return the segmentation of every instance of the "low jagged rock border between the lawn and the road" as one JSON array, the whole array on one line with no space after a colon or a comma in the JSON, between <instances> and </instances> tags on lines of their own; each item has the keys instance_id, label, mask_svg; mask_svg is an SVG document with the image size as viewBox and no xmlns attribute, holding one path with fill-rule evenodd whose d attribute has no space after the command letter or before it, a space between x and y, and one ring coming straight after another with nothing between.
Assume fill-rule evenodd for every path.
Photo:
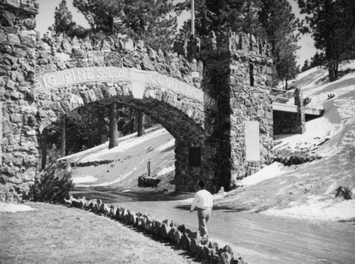
<instances>
[{"instance_id":1,"label":"low jagged rock border between the lawn and the road","mask_svg":"<svg viewBox=\"0 0 355 264\"><path fill-rule=\"evenodd\" d=\"M80 199L70 197L65 200L65 205L116 219L156 238L163 238L164 241L169 241L190 255L200 258L204 263L247 264L241 256L233 253L229 245L220 248L218 243L200 238L197 232L185 229L183 224L178 225L171 220L159 221L151 215L136 213L123 207L115 208L113 205L102 203L99 199L87 201L85 197Z\"/></svg>"}]
</instances>

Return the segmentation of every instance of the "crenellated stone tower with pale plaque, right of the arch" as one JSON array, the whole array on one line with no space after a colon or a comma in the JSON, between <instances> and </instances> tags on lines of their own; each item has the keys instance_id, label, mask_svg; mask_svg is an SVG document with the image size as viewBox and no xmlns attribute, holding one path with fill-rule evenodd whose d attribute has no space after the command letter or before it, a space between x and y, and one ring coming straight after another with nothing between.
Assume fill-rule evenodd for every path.
<instances>
[{"instance_id":1,"label":"crenellated stone tower with pale plaque, right of the arch","mask_svg":"<svg viewBox=\"0 0 355 264\"><path fill-rule=\"evenodd\" d=\"M236 33L212 33L204 40L201 53L202 87L218 98L219 107L217 116L205 113L205 131L210 131L205 144L214 150L209 155L216 165L214 184L228 190L235 180L271 160L273 109L266 83L271 80L272 60L267 45L252 35Z\"/></svg>"}]
</instances>

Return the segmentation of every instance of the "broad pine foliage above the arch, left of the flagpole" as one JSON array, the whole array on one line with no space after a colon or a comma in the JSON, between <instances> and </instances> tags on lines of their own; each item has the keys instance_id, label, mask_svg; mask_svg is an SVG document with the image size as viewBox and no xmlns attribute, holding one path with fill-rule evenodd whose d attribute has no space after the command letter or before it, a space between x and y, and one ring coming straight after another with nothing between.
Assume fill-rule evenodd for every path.
<instances>
[{"instance_id":1,"label":"broad pine foliage above the arch, left of the flagpole","mask_svg":"<svg viewBox=\"0 0 355 264\"><path fill-rule=\"evenodd\" d=\"M74 0L94 31L126 34L155 49L170 50L177 30L169 0Z\"/></svg>"}]
</instances>

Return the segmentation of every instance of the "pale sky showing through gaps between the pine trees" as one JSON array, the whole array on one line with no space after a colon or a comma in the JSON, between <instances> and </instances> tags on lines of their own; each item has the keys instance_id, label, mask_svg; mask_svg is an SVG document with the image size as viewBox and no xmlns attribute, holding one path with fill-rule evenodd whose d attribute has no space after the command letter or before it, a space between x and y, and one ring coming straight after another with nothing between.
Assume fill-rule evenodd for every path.
<instances>
[{"instance_id":1,"label":"pale sky showing through gaps between the pine trees","mask_svg":"<svg viewBox=\"0 0 355 264\"><path fill-rule=\"evenodd\" d=\"M61 0L37 0L37 1L38 4L40 4L40 8L39 8L39 14L36 17L36 21L37 21L36 30L39 31L41 35L43 35L48 30L48 27L54 23L55 7L59 5ZM175 1L180 1L180 0L175 0ZM293 8L293 12L295 13L295 16L298 18L303 18L303 16L300 14L300 11L298 9L297 1L295 0L289 0L289 1ZM67 0L67 6L69 10L72 12L73 20L78 24L89 28L89 24L85 20L82 13L77 11L77 9L75 9L75 7L72 5L72 0ZM178 25L182 25L182 22L188 17L190 17L190 13L188 12L182 13L182 16L178 18ZM301 35L298 45L300 45L300 50L297 50L297 57L298 57L297 62L298 65L302 67L303 62L305 62L305 60L310 61L310 57L315 55L317 50L314 46L314 41L312 40L310 35Z\"/></svg>"}]
</instances>

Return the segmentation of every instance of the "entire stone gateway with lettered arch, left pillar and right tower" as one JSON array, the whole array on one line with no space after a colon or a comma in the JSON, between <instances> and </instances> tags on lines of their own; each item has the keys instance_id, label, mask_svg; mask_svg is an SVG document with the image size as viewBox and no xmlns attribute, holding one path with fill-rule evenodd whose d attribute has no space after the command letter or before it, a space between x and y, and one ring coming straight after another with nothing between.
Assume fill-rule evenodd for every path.
<instances>
[{"instance_id":1,"label":"entire stone gateway with lettered arch, left pillar and right tower","mask_svg":"<svg viewBox=\"0 0 355 264\"><path fill-rule=\"evenodd\" d=\"M157 119L175 137L175 185L204 177L229 189L271 160L272 61L268 45L229 33L190 39L182 54L143 42L38 38L34 1L1 1L0 192L21 192L38 172L38 135L94 101L119 101Z\"/></svg>"}]
</instances>

